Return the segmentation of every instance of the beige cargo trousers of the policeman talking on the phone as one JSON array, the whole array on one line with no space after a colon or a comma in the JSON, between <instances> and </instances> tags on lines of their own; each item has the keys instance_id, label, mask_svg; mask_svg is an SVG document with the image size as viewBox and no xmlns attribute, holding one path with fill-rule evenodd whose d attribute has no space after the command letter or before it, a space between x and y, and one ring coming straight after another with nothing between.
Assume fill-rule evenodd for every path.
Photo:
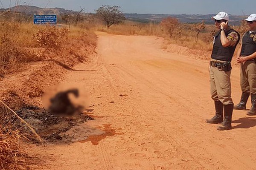
<instances>
[{"instance_id":1,"label":"beige cargo trousers of the policeman talking on the phone","mask_svg":"<svg viewBox=\"0 0 256 170\"><path fill-rule=\"evenodd\" d=\"M233 104L231 98L230 71L219 71L218 68L210 66L211 96L214 101L221 101L223 105Z\"/></svg>"}]
</instances>

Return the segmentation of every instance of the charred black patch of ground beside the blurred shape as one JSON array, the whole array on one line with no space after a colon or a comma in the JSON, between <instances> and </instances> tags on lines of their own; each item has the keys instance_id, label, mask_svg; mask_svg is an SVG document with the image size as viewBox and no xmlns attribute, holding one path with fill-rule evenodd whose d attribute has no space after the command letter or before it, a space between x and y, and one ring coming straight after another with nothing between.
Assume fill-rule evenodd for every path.
<instances>
[{"instance_id":1,"label":"charred black patch of ground beside the blurred shape","mask_svg":"<svg viewBox=\"0 0 256 170\"><path fill-rule=\"evenodd\" d=\"M68 136L65 132L74 126L81 125L88 120L93 119L92 117L83 113L77 114L72 117L56 116L49 113L43 108L36 106L29 106L21 108L16 113L24 119L29 125L35 128L35 131L41 136L42 139L47 142L72 142L72 136ZM27 133L29 129L20 123L20 121L14 117L12 123L15 124L16 128L20 128L21 131ZM29 140L37 143L34 135L26 135Z\"/></svg>"}]
</instances>

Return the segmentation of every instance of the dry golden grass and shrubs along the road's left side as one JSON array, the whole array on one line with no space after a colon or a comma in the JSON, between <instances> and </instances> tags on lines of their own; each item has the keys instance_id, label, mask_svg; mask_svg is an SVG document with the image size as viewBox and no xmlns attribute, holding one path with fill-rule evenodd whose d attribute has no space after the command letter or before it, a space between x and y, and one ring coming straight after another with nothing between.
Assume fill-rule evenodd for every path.
<instances>
[{"instance_id":1,"label":"dry golden grass and shrubs along the road's left side","mask_svg":"<svg viewBox=\"0 0 256 170\"><path fill-rule=\"evenodd\" d=\"M26 70L31 62L49 62L51 66L72 69L76 63L87 60L96 47L96 35L88 29L73 25L70 29L66 26L36 26L25 19L20 20L20 15L15 18L9 12L3 15L5 17L0 20L0 81L8 74ZM42 69L48 71L46 66ZM51 74L50 70L48 74ZM41 75L38 71L33 73L29 80L20 82L24 84L20 89L0 89L0 100L17 109L26 103L26 99L41 96L46 88L38 77ZM13 116L0 103L0 169L38 169L42 164L40 159L23 150L23 141L32 134L31 130L27 128L28 134L21 134L12 125Z\"/></svg>"}]
</instances>

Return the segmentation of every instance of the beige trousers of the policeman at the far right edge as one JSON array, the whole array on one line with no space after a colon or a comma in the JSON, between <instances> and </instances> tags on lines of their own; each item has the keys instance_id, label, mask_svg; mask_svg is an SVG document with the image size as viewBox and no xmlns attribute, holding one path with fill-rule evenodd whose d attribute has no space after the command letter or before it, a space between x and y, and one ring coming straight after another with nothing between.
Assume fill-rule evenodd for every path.
<instances>
[{"instance_id":1,"label":"beige trousers of the policeman at the far right edge","mask_svg":"<svg viewBox=\"0 0 256 170\"><path fill-rule=\"evenodd\" d=\"M255 61L241 63L240 86L242 92L256 94L256 64Z\"/></svg>"}]
</instances>

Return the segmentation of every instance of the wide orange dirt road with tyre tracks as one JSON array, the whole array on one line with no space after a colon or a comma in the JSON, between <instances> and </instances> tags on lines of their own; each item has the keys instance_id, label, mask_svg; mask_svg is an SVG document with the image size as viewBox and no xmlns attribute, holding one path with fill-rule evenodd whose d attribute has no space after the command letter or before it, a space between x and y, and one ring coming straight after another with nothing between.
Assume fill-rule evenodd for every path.
<instances>
[{"instance_id":1,"label":"wide orange dirt road with tyre tracks","mask_svg":"<svg viewBox=\"0 0 256 170\"><path fill-rule=\"evenodd\" d=\"M217 131L208 62L164 52L157 37L99 34L98 56L66 75L90 94L80 142L33 147L52 170L255 170L256 116L234 111ZM239 68L232 72L239 102ZM250 102L247 105L250 107ZM98 136L97 136L98 135Z\"/></svg>"}]
</instances>

